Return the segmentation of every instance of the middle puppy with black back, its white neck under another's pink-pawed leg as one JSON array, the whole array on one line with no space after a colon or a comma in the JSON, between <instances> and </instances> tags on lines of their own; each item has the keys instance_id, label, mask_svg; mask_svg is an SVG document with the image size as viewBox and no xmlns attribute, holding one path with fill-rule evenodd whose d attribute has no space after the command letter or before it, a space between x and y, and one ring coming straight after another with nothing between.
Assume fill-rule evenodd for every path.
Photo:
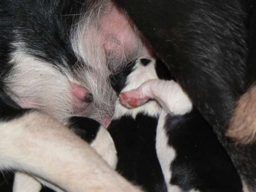
<instances>
[{"instance_id":1,"label":"middle puppy with black back, its white neck under another's pink-pawed leg","mask_svg":"<svg viewBox=\"0 0 256 192\"><path fill-rule=\"evenodd\" d=\"M124 71L110 76L110 82L119 94L156 78L154 61L139 58ZM116 170L147 192L167 191L155 147L160 110L155 101L129 110L117 100L114 117L108 127L117 150Z\"/></svg>"}]
</instances>

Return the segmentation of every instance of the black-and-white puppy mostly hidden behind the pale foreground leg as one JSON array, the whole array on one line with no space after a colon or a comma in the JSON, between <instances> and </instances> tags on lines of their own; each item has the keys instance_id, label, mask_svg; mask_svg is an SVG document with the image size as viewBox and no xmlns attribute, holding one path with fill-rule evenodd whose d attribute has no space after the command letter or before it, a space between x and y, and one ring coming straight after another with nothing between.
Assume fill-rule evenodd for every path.
<instances>
[{"instance_id":1,"label":"black-and-white puppy mostly hidden behind the pale foreground leg","mask_svg":"<svg viewBox=\"0 0 256 192\"><path fill-rule=\"evenodd\" d=\"M116 148L104 126L96 120L81 116L72 116L66 119L66 124L76 135L88 142L112 168L116 168ZM63 190L45 180L33 178L22 172L16 172L15 174L13 191L39 192L41 189L39 181L56 192L63 192Z\"/></svg>"}]
</instances>

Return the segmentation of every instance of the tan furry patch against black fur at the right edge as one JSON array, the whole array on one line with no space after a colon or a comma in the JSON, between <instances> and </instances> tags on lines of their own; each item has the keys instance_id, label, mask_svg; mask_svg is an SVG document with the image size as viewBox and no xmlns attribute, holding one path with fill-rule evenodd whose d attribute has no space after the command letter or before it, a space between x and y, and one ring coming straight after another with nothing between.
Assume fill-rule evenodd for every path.
<instances>
[{"instance_id":1,"label":"tan furry patch against black fur at the right edge","mask_svg":"<svg viewBox=\"0 0 256 192\"><path fill-rule=\"evenodd\" d=\"M226 135L237 144L256 141L256 84L238 100Z\"/></svg>"}]
</instances>

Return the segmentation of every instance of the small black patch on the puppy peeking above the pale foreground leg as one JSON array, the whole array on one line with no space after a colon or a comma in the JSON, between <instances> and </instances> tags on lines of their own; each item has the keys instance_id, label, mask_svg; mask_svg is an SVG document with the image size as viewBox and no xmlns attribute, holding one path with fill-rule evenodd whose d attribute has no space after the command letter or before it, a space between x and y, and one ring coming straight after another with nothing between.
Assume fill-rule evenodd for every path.
<instances>
[{"instance_id":1,"label":"small black patch on the puppy peeking above the pale foreground leg","mask_svg":"<svg viewBox=\"0 0 256 192\"><path fill-rule=\"evenodd\" d=\"M96 120L81 116L72 116L68 119L69 127L74 133L89 144L94 141L100 129L100 123Z\"/></svg>"}]
</instances>

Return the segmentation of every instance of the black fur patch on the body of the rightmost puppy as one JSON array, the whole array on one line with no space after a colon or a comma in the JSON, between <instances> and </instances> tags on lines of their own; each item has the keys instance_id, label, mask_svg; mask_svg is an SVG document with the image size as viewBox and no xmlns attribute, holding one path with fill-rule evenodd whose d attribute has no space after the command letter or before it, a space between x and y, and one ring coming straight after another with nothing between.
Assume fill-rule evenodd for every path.
<instances>
[{"instance_id":1,"label":"black fur patch on the body of the rightmost puppy","mask_svg":"<svg viewBox=\"0 0 256 192\"><path fill-rule=\"evenodd\" d=\"M242 192L240 177L210 125L197 110L166 116L168 144L176 157L170 183L184 191Z\"/></svg>"}]
</instances>

